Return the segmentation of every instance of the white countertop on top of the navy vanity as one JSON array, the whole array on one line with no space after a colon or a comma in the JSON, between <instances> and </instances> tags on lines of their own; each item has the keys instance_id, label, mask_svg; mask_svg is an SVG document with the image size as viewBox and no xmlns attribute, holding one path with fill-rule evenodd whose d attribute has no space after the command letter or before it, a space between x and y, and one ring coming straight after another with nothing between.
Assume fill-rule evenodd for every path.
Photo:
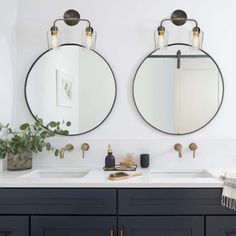
<instances>
[{"instance_id":1,"label":"white countertop on top of the navy vanity","mask_svg":"<svg viewBox=\"0 0 236 236\"><path fill-rule=\"evenodd\" d=\"M82 178L22 177L22 175L35 170L37 171L37 169L34 169L27 171L0 172L0 188L221 188L223 182L220 180L220 175L225 172L236 172L236 170L233 169L208 169L207 171L214 177L152 178L152 170L137 169L136 172L142 172L143 176L112 181L108 179L111 172L104 172L102 169L93 169ZM69 169L66 170L69 171Z\"/></svg>"}]
</instances>

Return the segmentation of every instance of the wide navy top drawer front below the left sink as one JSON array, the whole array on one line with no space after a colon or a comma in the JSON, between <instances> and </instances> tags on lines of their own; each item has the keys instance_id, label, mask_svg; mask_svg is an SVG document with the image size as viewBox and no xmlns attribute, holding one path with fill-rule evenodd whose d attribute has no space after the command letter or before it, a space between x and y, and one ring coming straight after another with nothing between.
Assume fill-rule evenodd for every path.
<instances>
[{"instance_id":1,"label":"wide navy top drawer front below the left sink","mask_svg":"<svg viewBox=\"0 0 236 236\"><path fill-rule=\"evenodd\" d=\"M0 189L0 214L116 214L115 189Z\"/></svg>"}]
</instances>

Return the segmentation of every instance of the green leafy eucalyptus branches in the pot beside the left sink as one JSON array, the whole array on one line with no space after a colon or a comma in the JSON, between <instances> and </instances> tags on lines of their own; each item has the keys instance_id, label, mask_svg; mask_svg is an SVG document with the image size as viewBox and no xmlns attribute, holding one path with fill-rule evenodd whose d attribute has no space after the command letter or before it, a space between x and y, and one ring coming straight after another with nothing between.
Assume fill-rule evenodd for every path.
<instances>
[{"instance_id":1,"label":"green leafy eucalyptus branches in the pot beside the left sink","mask_svg":"<svg viewBox=\"0 0 236 236\"><path fill-rule=\"evenodd\" d=\"M54 148L47 139L54 137L56 134L69 134L68 130L60 128L63 124L69 127L71 122L51 121L44 125L45 129L43 127L43 120L38 118L34 124L25 123L20 125L18 131L13 131L9 124L4 126L0 123L0 130L4 129L7 134L6 139L0 138L0 158L5 158L8 153L38 153L43 150L53 151L54 155L58 156L59 150Z\"/></svg>"}]
</instances>

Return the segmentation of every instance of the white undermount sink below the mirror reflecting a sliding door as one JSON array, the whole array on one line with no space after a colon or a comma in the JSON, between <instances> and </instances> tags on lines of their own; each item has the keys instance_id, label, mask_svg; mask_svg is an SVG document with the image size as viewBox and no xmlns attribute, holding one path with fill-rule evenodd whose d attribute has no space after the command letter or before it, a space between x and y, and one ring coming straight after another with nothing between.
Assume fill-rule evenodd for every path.
<instances>
[{"instance_id":1,"label":"white undermount sink below the mirror reflecting a sliding door","mask_svg":"<svg viewBox=\"0 0 236 236\"><path fill-rule=\"evenodd\" d=\"M152 170L150 172L151 178L214 178L207 170L184 170L184 171L158 171Z\"/></svg>"}]
</instances>

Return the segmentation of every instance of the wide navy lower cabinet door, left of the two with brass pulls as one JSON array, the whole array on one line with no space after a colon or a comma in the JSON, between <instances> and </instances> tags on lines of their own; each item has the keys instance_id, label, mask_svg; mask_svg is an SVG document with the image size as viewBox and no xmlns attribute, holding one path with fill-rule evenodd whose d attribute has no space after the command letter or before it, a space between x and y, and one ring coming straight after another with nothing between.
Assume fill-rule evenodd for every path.
<instances>
[{"instance_id":1,"label":"wide navy lower cabinet door, left of the two with brass pulls","mask_svg":"<svg viewBox=\"0 0 236 236\"><path fill-rule=\"evenodd\" d=\"M32 216L31 236L115 236L116 222L115 216Z\"/></svg>"}]
</instances>

